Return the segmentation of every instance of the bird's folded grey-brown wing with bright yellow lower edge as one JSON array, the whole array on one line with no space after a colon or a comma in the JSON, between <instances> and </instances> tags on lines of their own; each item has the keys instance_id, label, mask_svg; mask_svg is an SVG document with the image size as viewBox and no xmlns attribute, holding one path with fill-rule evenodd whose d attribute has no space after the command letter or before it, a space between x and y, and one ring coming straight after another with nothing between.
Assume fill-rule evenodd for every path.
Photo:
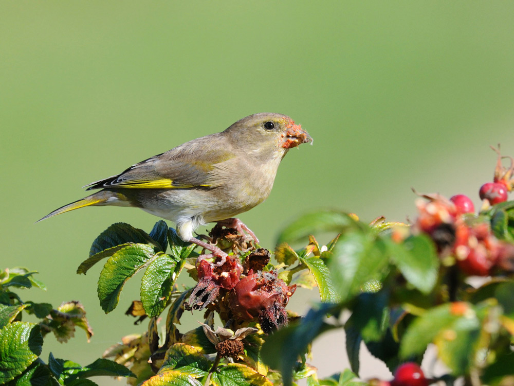
<instances>
[{"instance_id":1,"label":"bird's folded grey-brown wing with bright yellow lower edge","mask_svg":"<svg viewBox=\"0 0 514 386\"><path fill-rule=\"evenodd\" d=\"M108 187L172 189L210 186L209 172L235 155L222 138L206 136L141 161L116 176L86 185L87 190Z\"/></svg>"}]
</instances>

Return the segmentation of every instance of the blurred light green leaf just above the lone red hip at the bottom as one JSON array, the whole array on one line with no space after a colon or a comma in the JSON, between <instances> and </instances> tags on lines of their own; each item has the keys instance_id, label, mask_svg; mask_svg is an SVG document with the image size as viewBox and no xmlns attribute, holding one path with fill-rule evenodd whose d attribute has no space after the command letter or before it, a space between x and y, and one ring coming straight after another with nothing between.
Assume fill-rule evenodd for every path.
<instances>
[{"instance_id":1,"label":"blurred light green leaf just above the lone red hip at the bottom","mask_svg":"<svg viewBox=\"0 0 514 386\"><path fill-rule=\"evenodd\" d=\"M400 358L407 359L423 354L439 332L449 329L461 318L458 314L451 313L450 307L451 304L434 307L409 325L400 343Z\"/></svg>"}]
</instances>

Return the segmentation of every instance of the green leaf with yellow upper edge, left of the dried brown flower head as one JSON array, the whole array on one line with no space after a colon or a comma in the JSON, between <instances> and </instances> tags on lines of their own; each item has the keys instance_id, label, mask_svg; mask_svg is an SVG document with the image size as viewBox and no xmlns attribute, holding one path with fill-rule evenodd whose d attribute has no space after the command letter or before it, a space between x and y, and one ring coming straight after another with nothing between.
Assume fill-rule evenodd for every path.
<instances>
[{"instance_id":1,"label":"green leaf with yellow upper edge, left of the dried brown flower head","mask_svg":"<svg viewBox=\"0 0 514 386\"><path fill-rule=\"evenodd\" d=\"M183 343L175 343L166 352L158 374L177 369L194 378L200 378L207 375L210 368L211 362L205 359L197 348Z\"/></svg>"}]
</instances>

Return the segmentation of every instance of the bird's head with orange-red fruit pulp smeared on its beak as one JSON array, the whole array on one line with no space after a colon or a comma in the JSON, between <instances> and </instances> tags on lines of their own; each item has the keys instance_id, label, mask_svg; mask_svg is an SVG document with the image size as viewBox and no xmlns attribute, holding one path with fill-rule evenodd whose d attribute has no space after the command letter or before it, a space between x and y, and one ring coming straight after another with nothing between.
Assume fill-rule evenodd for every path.
<instances>
[{"instance_id":1,"label":"bird's head with orange-red fruit pulp smeared on its beak","mask_svg":"<svg viewBox=\"0 0 514 386\"><path fill-rule=\"evenodd\" d=\"M259 113L238 120L225 130L238 147L260 157L283 157L293 147L313 138L287 115Z\"/></svg>"}]
</instances>

